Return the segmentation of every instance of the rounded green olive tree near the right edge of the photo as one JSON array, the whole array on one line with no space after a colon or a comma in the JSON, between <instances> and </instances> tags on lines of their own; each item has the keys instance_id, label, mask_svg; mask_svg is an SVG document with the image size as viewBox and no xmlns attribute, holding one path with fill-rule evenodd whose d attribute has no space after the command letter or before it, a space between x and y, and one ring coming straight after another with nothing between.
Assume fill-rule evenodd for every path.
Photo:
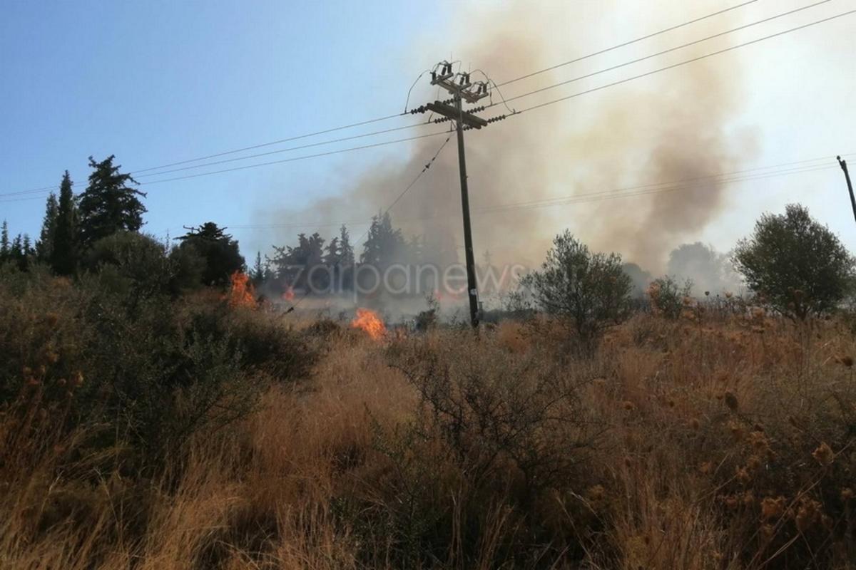
<instances>
[{"instance_id":1,"label":"rounded green olive tree near the right edge of the photo","mask_svg":"<svg viewBox=\"0 0 856 570\"><path fill-rule=\"evenodd\" d=\"M738 242L734 265L751 291L794 320L835 309L853 279L847 248L800 204L762 215L752 236Z\"/></svg>"}]
</instances>

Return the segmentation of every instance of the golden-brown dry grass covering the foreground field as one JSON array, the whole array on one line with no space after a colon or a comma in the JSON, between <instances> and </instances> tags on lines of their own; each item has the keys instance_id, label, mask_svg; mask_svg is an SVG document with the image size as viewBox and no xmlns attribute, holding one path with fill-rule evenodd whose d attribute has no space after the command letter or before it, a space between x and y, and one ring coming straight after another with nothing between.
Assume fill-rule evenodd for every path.
<instances>
[{"instance_id":1,"label":"golden-brown dry grass covering the foreground field","mask_svg":"<svg viewBox=\"0 0 856 570\"><path fill-rule=\"evenodd\" d=\"M199 433L166 473L99 472L80 434L28 463L3 450L0 567L854 567L853 337L693 315L638 315L585 360L544 326L384 343L325 328L311 378ZM503 450L475 481L479 440L455 455L414 354L461 382L513 370L515 390L550 361L597 437L549 485Z\"/></svg>"}]
</instances>

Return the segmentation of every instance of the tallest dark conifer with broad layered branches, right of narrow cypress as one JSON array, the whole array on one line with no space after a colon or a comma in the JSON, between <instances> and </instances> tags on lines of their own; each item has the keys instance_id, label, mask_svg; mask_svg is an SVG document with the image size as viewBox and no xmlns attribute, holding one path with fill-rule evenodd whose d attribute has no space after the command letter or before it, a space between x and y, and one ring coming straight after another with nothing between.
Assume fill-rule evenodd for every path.
<instances>
[{"instance_id":1,"label":"tallest dark conifer with broad layered branches, right of narrow cypress","mask_svg":"<svg viewBox=\"0 0 856 570\"><path fill-rule=\"evenodd\" d=\"M89 157L93 171L78 202L80 238L87 247L116 232L137 232L143 225L146 207L138 197L146 194L128 186L138 183L130 174L120 173L119 166L113 166L114 158L110 155L95 162Z\"/></svg>"}]
</instances>

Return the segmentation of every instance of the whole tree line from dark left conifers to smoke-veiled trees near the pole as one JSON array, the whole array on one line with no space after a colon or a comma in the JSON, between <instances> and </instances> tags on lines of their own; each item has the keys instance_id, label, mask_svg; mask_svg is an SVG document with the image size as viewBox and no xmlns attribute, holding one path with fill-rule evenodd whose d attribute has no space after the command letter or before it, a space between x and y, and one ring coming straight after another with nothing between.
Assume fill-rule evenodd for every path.
<instances>
[{"instance_id":1,"label":"whole tree line from dark left conifers to smoke-veiled trees near the pole","mask_svg":"<svg viewBox=\"0 0 856 570\"><path fill-rule=\"evenodd\" d=\"M172 262L171 270L180 276L182 286L226 285L232 273L247 271L238 241L215 222L186 227L187 233L177 238L178 245L172 249L140 232L147 210L142 203L146 193L136 187L139 183L130 173L122 172L113 155L100 162L90 156L89 167L92 173L79 195L74 194L68 171L63 173L58 196L51 192L46 200L45 217L34 242L26 233L10 238L9 226L3 221L0 264L9 262L26 271L39 263L57 275L70 276L105 263L130 263L133 257L141 263L152 252L157 256L155 250L160 248ZM256 285L269 282L270 288L282 291L323 291L333 283L351 289L355 267L369 264L383 269L394 263L429 261L431 256L425 252L422 238L406 238L393 226L389 213L378 213L372 218L359 256L348 227L343 225L329 240L318 232L300 233L296 244L274 245L270 256L263 258L259 251L248 273ZM312 267L326 271L308 271Z\"/></svg>"}]
</instances>

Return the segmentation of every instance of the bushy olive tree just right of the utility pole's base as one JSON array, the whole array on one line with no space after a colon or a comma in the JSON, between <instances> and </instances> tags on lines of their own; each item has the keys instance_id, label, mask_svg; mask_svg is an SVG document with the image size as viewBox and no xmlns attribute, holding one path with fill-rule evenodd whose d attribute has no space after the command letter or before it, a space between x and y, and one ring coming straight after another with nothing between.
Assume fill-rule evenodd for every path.
<instances>
[{"instance_id":1,"label":"bushy olive tree just right of the utility pole's base","mask_svg":"<svg viewBox=\"0 0 856 570\"><path fill-rule=\"evenodd\" d=\"M615 253L591 253L567 230L553 240L540 271L523 278L538 307L567 319L591 346L630 314L633 283Z\"/></svg>"}]
</instances>

